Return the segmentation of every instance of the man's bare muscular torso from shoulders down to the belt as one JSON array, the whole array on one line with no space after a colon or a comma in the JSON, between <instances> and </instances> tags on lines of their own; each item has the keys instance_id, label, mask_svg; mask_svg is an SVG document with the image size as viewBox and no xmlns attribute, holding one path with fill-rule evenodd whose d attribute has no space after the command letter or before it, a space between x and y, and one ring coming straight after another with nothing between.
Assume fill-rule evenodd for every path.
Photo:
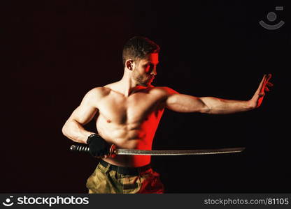
<instances>
[{"instance_id":1,"label":"man's bare muscular torso from shoulders down to the belt","mask_svg":"<svg viewBox=\"0 0 291 209\"><path fill-rule=\"evenodd\" d=\"M117 148L151 150L164 111L164 91L152 87L125 97L114 86L104 88L106 93L97 104L96 125L101 137ZM124 167L141 167L150 163L150 156L116 155L104 160Z\"/></svg>"}]
</instances>

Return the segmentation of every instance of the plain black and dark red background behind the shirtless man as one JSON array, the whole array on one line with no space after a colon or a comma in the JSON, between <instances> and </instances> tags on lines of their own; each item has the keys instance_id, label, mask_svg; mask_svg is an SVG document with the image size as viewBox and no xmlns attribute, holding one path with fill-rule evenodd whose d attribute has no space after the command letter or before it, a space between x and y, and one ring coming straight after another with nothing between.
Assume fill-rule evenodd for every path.
<instances>
[{"instance_id":1,"label":"plain black and dark red background behind the shirtless man","mask_svg":"<svg viewBox=\"0 0 291 209\"><path fill-rule=\"evenodd\" d=\"M273 75L259 109L164 112L153 149L246 146L237 154L152 157L166 192L291 192L287 2L1 1L0 192L87 192L98 160L71 153L62 125L87 91L121 79L122 47L132 36L160 45L153 84L180 93L248 100L264 73ZM269 22L272 11L277 20ZM285 25L268 31L260 20Z\"/></svg>"}]
</instances>

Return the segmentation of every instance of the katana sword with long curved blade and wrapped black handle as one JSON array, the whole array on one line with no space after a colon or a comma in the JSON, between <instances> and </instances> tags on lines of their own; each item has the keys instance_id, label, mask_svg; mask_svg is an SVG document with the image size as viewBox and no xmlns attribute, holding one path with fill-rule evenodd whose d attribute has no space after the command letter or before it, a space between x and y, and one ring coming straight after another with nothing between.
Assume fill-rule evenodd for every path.
<instances>
[{"instance_id":1,"label":"katana sword with long curved blade and wrapped black handle","mask_svg":"<svg viewBox=\"0 0 291 209\"><path fill-rule=\"evenodd\" d=\"M72 145L71 151L89 153L89 146ZM225 153L241 153L245 147L218 148L218 149L198 149L198 150L134 150L120 149L113 144L110 148L110 155L214 155Z\"/></svg>"}]
</instances>

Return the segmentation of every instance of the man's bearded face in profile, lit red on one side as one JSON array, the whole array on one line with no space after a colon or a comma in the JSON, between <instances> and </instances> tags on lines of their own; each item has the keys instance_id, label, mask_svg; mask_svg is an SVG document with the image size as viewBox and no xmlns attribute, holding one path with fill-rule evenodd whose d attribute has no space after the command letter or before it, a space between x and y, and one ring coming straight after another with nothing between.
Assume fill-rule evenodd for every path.
<instances>
[{"instance_id":1,"label":"man's bearded face in profile, lit red on one side","mask_svg":"<svg viewBox=\"0 0 291 209\"><path fill-rule=\"evenodd\" d=\"M159 63L159 54L151 53L144 59L135 62L132 78L138 85L149 86L157 75L157 64Z\"/></svg>"}]
</instances>

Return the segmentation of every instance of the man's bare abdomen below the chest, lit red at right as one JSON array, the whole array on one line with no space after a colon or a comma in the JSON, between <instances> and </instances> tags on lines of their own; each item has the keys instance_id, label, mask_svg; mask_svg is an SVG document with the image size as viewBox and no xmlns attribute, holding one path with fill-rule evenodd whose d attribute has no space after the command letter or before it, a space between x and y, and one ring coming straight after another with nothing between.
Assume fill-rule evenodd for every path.
<instances>
[{"instance_id":1,"label":"man's bare abdomen below the chest, lit red at right","mask_svg":"<svg viewBox=\"0 0 291 209\"><path fill-rule=\"evenodd\" d=\"M158 121L151 118L143 123L117 124L99 115L96 125L99 135L110 146L115 144L116 148L151 150ZM115 155L103 160L121 167L142 167L150 164L150 155Z\"/></svg>"}]
</instances>

